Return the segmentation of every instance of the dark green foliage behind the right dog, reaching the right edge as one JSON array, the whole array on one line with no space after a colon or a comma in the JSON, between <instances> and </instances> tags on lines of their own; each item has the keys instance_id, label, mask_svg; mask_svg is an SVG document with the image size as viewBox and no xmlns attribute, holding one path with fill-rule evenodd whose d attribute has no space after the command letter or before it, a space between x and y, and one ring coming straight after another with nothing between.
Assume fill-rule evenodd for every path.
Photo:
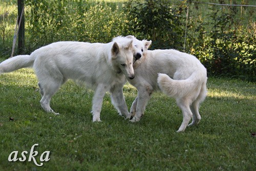
<instances>
[{"instance_id":1,"label":"dark green foliage behind the right dog, reaching the right edge","mask_svg":"<svg viewBox=\"0 0 256 171\"><path fill-rule=\"evenodd\" d=\"M129 13L129 31L139 39L151 39L151 49L183 50L184 14L192 4L181 2L175 8L172 6L171 1L127 2L125 11ZM237 7L218 6L209 6L211 12L206 22L200 17L202 11L199 11L198 4L192 7L192 17L188 17L187 23L186 52L201 60L208 75L255 81L255 23L245 28L242 18L236 18Z\"/></svg>"}]
</instances>

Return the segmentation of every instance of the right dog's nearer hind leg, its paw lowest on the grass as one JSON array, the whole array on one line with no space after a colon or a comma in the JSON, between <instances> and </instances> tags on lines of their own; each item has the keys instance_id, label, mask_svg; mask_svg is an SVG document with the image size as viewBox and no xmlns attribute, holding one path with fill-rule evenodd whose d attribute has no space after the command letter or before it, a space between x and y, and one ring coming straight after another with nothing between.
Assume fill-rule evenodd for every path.
<instances>
[{"instance_id":1,"label":"right dog's nearer hind leg, its paw lowest on the grass","mask_svg":"<svg viewBox=\"0 0 256 171\"><path fill-rule=\"evenodd\" d=\"M179 127L179 130L177 132L183 132L185 131L190 119L193 116L193 113L190 111L189 108L189 102L187 99L176 99L177 105L179 106L179 108L182 111L183 114L183 121Z\"/></svg>"}]
</instances>

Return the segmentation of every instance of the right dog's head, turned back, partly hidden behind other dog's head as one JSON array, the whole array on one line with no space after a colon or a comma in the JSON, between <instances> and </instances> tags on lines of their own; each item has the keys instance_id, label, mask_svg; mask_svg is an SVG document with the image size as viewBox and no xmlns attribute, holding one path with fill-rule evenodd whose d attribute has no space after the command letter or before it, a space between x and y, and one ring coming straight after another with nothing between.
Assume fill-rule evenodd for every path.
<instances>
[{"instance_id":1,"label":"right dog's head, turned back, partly hidden behind other dog's head","mask_svg":"<svg viewBox=\"0 0 256 171\"><path fill-rule=\"evenodd\" d=\"M135 63L136 60L140 59L146 53L152 42L151 40L138 40L132 35L126 36L125 38L133 40L133 46L135 48L133 63Z\"/></svg>"}]
</instances>

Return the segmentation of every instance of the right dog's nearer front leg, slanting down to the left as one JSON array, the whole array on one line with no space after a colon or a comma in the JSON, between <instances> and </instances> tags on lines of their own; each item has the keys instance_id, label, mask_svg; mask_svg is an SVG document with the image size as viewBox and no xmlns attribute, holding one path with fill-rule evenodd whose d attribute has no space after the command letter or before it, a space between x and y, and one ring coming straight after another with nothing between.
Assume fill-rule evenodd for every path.
<instances>
[{"instance_id":1,"label":"right dog's nearer front leg, slanting down to the left","mask_svg":"<svg viewBox=\"0 0 256 171\"><path fill-rule=\"evenodd\" d=\"M144 114L144 111L146 109L146 104L148 100L150 100L150 96L152 92L153 92L153 88L150 85L141 86L138 89L136 114L131 120L132 122L136 122L140 120L141 116Z\"/></svg>"}]
</instances>

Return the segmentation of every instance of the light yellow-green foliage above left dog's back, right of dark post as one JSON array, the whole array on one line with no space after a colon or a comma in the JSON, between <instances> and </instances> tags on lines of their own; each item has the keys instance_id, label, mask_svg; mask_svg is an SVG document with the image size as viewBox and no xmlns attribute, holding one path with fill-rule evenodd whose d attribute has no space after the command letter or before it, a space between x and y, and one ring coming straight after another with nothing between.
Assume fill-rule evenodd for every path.
<instances>
[{"instance_id":1,"label":"light yellow-green foliage above left dog's back, right of dark post","mask_svg":"<svg viewBox=\"0 0 256 171\"><path fill-rule=\"evenodd\" d=\"M26 5L28 41L35 47L61 40L109 42L127 30L124 12L110 3L27 0Z\"/></svg>"}]
</instances>

